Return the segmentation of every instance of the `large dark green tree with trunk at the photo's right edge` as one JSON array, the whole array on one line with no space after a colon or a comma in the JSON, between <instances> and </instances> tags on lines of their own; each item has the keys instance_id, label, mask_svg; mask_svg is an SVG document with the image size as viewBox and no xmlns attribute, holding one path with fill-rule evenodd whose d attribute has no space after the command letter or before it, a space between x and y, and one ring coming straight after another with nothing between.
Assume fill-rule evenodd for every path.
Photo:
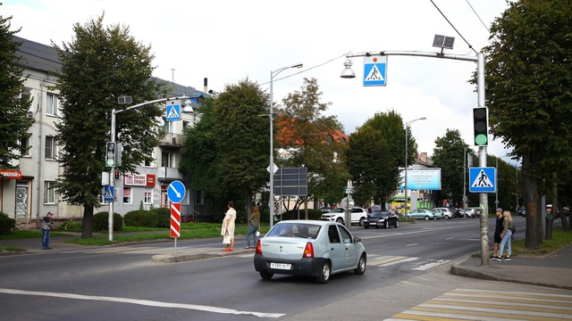
<instances>
[{"instance_id":1,"label":"large dark green tree with trunk at the photo's right edge","mask_svg":"<svg viewBox=\"0 0 572 321\"><path fill-rule=\"evenodd\" d=\"M572 2L509 3L491 27L485 75L492 134L522 157L528 249L543 243L539 178L568 169L572 143ZM568 174L568 173L567 173Z\"/></svg>"}]
</instances>

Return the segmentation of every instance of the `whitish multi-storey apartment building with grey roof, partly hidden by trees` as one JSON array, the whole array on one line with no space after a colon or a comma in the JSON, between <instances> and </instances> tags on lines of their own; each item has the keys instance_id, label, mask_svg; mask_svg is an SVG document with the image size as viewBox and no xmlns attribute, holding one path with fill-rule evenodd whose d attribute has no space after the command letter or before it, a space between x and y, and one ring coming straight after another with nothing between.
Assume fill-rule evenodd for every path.
<instances>
[{"instance_id":1,"label":"whitish multi-storey apartment building with grey roof, partly hidden by trees","mask_svg":"<svg viewBox=\"0 0 572 321\"><path fill-rule=\"evenodd\" d=\"M23 76L27 78L21 95L31 98L28 117L33 119L33 124L29 128L29 138L21 142L22 146L29 146L29 150L20 160L13 161L16 170L0 169L0 210L9 217L16 218L19 226L35 226L47 211L52 211L55 218L80 218L83 208L63 202L54 188L63 169L58 161L59 147L55 138L55 123L60 114L59 96L51 87L57 83L53 71L60 70L61 62L52 46L21 37L13 38L22 43L18 54L21 55L21 65L25 69ZM182 112L181 120L171 122L165 121L165 115L163 128L166 135L153 152L155 161L140 164L139 174L126 173L115 182L114 211L122 215L141 207L170 207L167 186L174 180L184 181L178 169L182 133L184 128L194 126L200 119L200 114L193 111L192 107L197 107L206 94L189 86L173 83L169 86L172 86L171 96L190 97L189 102L185 102L187 105L184 109L189 112ZM117 117L121 117L121 114ZM203 198L200 191L187 188L181 202L181 214L198 218L204 212ZM96 212L108 210L108 204L103 202L103 186L101 205Z\"/></svg>"}]
</instances>

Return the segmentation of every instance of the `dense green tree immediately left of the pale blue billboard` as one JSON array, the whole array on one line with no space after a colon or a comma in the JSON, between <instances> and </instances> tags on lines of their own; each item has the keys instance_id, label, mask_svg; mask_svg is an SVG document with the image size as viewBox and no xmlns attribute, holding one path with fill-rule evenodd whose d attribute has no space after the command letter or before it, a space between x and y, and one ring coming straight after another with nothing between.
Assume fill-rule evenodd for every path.
<instances>
[{"instance_id":1,"label":"dense green tree immediately left of the pale blue billboard","mask_svg":"<svg viewBox=\"0 0 572 321\"><path fill-rule=\"evenodd\" d=\"M409 161L413 161L416 143L408 142ZM400 166L405 160L403 120L395 111L375 113L349 136L348 167L356 186L355 201L365 204L374 200L384 205L400 184ZM408 162L410 164L410 162Z\"/></svg>"}]
</instances>

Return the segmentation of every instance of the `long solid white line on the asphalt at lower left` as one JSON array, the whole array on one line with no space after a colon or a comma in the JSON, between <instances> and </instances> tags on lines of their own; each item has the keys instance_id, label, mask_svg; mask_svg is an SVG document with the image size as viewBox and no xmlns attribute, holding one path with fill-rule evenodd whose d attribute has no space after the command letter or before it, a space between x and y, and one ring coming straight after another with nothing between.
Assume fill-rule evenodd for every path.
<instances>
[{"instance_id":1,"label":"long solid white line on the asphalt at lower left","mask_svg":"<svg viewBox=\"0 0 572 321\"><path fill-rule=\"evenodd\" d=\"M76 300L101 300L109 302L120 302L120 303L130 303L139 304L148 307L159 307L159 308L174 308L174 309L194 309L198 311L206 311L213 313L222 314L232 314L232 315L253 315L255 317L283 317L282 313L265 313L265 312L253 312L253 311L239 311L235 309L223 309L217 307L210 307L197 304L184 304L184 303L171 303L171 302L161 302L156 300L135 300L127 298L116 298L116 297L105 297L96 295L81 295L81 294L71 294L71 293L58 293L58 292L38 292L38 291L21 291L13 289L2 289L0 288L0 293L6 294L19 294L19 295L37 295L37 296L47 296L54 298L63 299L76 299Z\"/></svg>"}]
</instances>

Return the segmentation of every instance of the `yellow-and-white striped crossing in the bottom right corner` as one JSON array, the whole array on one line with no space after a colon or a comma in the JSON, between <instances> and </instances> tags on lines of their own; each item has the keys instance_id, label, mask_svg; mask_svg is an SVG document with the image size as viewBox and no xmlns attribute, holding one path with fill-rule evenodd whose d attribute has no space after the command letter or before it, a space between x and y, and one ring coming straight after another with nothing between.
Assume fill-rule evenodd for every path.
<instances>
[{"instance_id":1,"label":"yellow-and-white striped crossing in the bottom right corner","mask_svg":"<svg viewBox=\"0 0 572 321\"><path fill-rule=\"evenodd\" d=\"M456 289L385 320L572 320L572 295Z\"/></svg>"}]
</instances>

